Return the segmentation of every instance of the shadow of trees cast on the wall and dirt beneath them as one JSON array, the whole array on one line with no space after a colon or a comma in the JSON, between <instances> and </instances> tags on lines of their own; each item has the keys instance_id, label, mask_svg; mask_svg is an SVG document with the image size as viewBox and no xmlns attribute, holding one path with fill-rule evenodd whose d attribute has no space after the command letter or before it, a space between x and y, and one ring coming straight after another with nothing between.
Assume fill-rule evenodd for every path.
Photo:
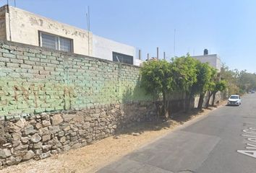
<instances>
[{"instance_id":1,"label":"shadow of trees cast on the wall and dirt beneath them","mask_svg":"<svg viewBox=\"0 0 256 173\"><path fill-rule=\"evenodd\" d=\"M153 94L143 99L143 94L145 95L145 91L140 86L140 82L137 82L134 87L127 87L122 92L115 136L122 134L137 136L147 131L174 128L202 112L197 109L183 112L184 99L179 98L169 102L171 116L167 120L162 120L158 118L158 106L162 104L161 100L153 97Z\"/></svg>"}]
</instances>

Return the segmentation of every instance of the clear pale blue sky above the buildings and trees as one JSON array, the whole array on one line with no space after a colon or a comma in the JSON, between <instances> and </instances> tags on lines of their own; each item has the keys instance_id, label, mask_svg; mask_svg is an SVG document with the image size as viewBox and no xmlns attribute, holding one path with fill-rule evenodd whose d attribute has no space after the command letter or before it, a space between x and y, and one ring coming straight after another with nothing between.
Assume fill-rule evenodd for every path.
<instances>
[{"instance_id":1,"label":"clear pale blue sky above the buildings and trees","mask_svg":"<svg viewBox=\"0 0 256 173\"><path fill-rule=\"evenodd\" d=\"M256 72L253 0L16 0L16 6L82 29L90 6L93 34L141 49L142 59L156 56L157 47L168 59L207 48L231 69Z\"/></svg>"}]
</instances>

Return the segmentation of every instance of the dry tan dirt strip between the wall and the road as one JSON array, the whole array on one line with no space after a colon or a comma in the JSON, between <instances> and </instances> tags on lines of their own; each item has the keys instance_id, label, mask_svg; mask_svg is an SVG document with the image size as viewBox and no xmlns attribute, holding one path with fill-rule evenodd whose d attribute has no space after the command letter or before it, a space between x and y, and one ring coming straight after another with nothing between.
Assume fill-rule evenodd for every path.
<instances>
[{"instance_id":1,"label":"dry tan dirt strip between the wall and the road","mask_svg":"<svg viewBox=\"0 0 256 173\"><path fill-rule=\"evenodd\" d=\"M218 107L223 105L224 102L221 102ZM164 136L187 121L208 115L208 112L214 109L216 107L204 109L202 112L195 110L189 114L179 113L173 115L174 117L171 117L171 120L164 123L142 123L116 136L96 141L92 145L71 150L64 154L56 154L40 161L30 160L22 162L21 164L1 169L0 173L96 172L106 164L150 143L155 138Z\"/></svg>"}]
</instances>

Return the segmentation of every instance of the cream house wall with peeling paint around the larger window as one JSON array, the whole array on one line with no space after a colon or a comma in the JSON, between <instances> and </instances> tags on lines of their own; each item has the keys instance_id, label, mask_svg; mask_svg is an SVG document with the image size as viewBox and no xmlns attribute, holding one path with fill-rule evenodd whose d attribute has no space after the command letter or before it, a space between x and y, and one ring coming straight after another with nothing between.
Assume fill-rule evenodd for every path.
<instances>
[{"instance_id":1,"label":"cream house wall with peeling paint around the larger window","mask_svg":"<svg viewBox=\"0 0 256 173\"><path fill-rule=\"evenodd\" d=\"M13 6L9 6L6 20L7 40L10 40L11 35L14 42L40 46L38 32L42 31L72 39L74 53L91 56L93 52L92 46L90 46L93 43L93 35L86 30L56 22Z\"/></svg>"}]
</instances>

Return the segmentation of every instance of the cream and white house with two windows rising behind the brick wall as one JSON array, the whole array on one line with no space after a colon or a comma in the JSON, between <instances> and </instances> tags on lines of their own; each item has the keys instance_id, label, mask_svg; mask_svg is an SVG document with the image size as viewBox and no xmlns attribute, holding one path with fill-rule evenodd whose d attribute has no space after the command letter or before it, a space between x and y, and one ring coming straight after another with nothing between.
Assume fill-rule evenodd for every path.
<instances>
[{"instance_id":1,"label":"cream and white house with two windows rising behind the brick wall","mask_svg":"<svg viewBox=\"0 0 256 173\"><path fill-rule=\"evenodd\" d=\"M0 39L140 66L137 49L13 6L0 7Z\"/></svg>"}]
</instances>

